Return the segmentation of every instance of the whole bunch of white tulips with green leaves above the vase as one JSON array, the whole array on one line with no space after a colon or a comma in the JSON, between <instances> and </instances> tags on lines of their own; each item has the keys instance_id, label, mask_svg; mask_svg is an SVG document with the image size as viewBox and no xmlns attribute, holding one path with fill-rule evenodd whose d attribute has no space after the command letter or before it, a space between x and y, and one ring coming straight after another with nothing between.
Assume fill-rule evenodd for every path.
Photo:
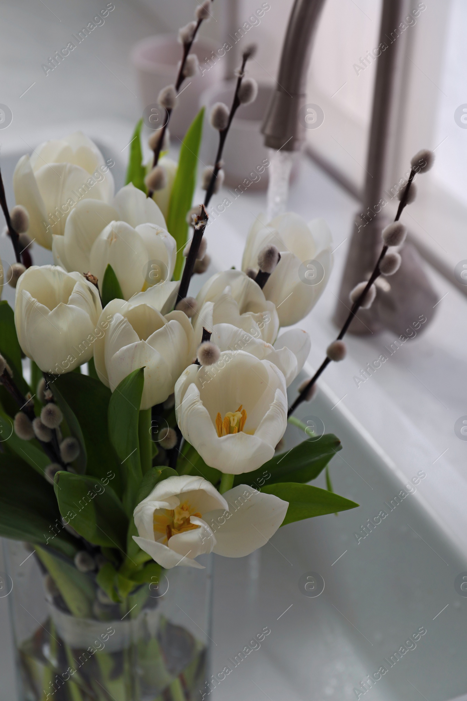
<instances>
[{"instance_id":1,"label":"whole bunch of white tulips with green leaves above the vase","mask_svg":"<svg viewBox=\"0 0 467 701\"><path fill-rule=\"evenodd\" d=\"M128 607L161 568L244 557L281 526L356 506L308 484L340 450L337 437L309 440L294 419L302 442L287 434L279 447L287 387L311 347L302 329L279 326L307 315L326 285L326 224L263 219L244 271L211 270L188 291L191 271L209 265L202 209L183 268L196 158L182 153L171 177L146 177L140 130L115 197L109 163L79 132L23 156L13 178L29 233L55 266L20 264L14 314L0 302L0 429L11 435L0 534L31 543L60 606L84 618ZM201 133L202 113L186 152L197 154ZM154 154L157 164L157 144ZM319 285L300 281L308 259L323 267Z\"/></svg>"}]
</instances>

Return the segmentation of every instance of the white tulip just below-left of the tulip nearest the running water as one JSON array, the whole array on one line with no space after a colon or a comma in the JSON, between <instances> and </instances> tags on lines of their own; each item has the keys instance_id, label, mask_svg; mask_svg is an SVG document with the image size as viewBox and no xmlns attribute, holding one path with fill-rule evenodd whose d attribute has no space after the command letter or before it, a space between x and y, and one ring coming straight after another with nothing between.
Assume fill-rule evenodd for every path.
<instances>
[{"instance_id":1,"label":"white tulip just below-left of the tulip nearest the running water","mask_svg":"<svg viewBox=\"0 0 467 701\"><path fill-rule=\"evenodd\" d=\"M225 323L274 343L279 331L276 308L267 301L259 285L242 271L216 273L204 283L196 299L200 309L194 320L198 340L203 327L212 331L214 325Z\"/></svg>"}]
</instances>

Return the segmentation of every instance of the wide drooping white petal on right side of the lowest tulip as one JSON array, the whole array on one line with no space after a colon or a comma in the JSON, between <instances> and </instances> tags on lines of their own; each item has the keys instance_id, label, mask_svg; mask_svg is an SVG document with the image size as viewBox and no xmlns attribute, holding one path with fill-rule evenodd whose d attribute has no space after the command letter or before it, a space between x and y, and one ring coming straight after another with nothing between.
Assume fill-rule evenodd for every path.
<instances>
[{"instance_id":1,"label":"wide drooping white petal on right side of the lowest tulip","mask_svg":"<svg viewBox=\"0 0 467 701\"><path fill-rule=\"evenodd\" d=\"M246 484L226 491L228 512L204 514L216 538L214 552L224 557L244 557L262 547L286 517L288 502L262 494Z\"/></svg>"}]
</instances>

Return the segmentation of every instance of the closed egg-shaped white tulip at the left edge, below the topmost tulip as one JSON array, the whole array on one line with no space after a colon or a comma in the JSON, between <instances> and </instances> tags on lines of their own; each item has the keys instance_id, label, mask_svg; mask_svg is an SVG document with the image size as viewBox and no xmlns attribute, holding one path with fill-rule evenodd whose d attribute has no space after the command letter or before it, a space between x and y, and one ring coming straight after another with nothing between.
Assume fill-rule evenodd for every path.
<instances>
[{"instance_id":1,"label":"closed egg-shaped white tulip at the left edge, below the topmost tulip","mask_svg":"<svg viewBox=\"0 0 467 701\"><path fill-rule=\"evenodd\" d=\"M16 285L18 341L43 372L71 372L92 358L101 313L95 286L79 273L31 266Z\"/></svg>"}]
</instances>

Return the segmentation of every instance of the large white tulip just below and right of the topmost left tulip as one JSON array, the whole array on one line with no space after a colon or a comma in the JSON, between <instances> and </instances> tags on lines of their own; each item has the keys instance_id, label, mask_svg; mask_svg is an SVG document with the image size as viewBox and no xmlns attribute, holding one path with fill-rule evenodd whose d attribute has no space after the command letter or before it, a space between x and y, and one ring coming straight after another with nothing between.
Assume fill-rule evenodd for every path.
<instances>
[{"instance_id":1,"label":"large white tulip just below and right of the topmost left tulip","mask_svg":"<svg viewBox=\"0 0 467 701\"><path fill-rule=\"evenodd\" d=\"M56 265L92 272L100 290L110 263L125 299L170 280L176 261L176 242L158 205L131 183L118 191L112 205L78 203L64 236L53 236L52 250Z\"/></svg>"}]
</instances>

